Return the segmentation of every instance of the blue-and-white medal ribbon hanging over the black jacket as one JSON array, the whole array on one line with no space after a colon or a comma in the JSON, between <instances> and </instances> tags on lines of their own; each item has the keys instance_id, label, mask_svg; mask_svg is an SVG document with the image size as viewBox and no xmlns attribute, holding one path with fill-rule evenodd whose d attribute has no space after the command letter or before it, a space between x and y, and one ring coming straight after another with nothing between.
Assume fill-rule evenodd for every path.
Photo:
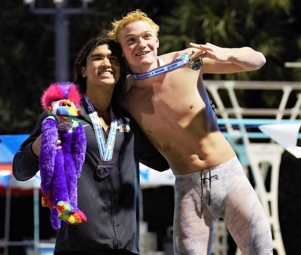
<instances>
[{"instance_id":1,"label":"blue-and-white medal ribbon hanging over the black jacket","mask_svg":"<svg viewBox=\"0 0 301 255\"><path fill-rule=\"evenodd\" d=\"M85 98L85 101L86 101L86 104L88 107L89 117L91 118L91 121L93 124L94 133L95 133L96 140L98 143L100 158L103 161L110 161L112 159L112 155L113 155L115 137L116 137L116 132L117 132L117 120L116 120L116 117L112 110L112 106L110 105L111 128L110 128L109 136L107 139L107 143L105 143L105 138L102 133L102 127L101 127L99 118L94 110L94 107L86 94L84 94L84 98Z\"/></svg>"}]
</instances>

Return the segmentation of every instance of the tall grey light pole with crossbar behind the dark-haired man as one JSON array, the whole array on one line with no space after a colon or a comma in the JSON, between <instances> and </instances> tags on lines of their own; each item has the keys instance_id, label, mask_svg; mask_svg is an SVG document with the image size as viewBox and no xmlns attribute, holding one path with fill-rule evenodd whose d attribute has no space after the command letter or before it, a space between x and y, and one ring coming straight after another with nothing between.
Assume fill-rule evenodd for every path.
<instances>
[{"instance_id":1,"label":"tall grey light pole with crossbar behind the dark-haired man","mask_svg":"<svg viewBox=\"0 0 301 255\"><path fill-rule=\"evenodd\" d=\"M55 15L55 80L56 82L68 81L69 70L69 21L72 14L88 13L88 3L93 0L82 0L81 8L68 8L68 0L53 0L53 8L36 8L35 0L24 0L29 4L30 11L34 14Z\"/></svg>"}]
</instances>

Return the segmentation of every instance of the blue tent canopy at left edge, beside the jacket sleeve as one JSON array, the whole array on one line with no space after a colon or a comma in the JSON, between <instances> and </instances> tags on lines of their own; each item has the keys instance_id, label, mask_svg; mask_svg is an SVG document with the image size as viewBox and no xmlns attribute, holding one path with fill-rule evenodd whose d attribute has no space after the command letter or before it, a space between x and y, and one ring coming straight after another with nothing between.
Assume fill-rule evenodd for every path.
<instances>
[{"instance_id":1,"label":"blue tent canopy at left edge, beside the jacket sleeve","mask_svg":"<svg viewBox=\"0 0 301 255\"><path fill-rule=\"evenodd\" d=\"M0 135L0 163L12 163L13 156L28 137L29 134Z\"/></svg>"}]
</instances>

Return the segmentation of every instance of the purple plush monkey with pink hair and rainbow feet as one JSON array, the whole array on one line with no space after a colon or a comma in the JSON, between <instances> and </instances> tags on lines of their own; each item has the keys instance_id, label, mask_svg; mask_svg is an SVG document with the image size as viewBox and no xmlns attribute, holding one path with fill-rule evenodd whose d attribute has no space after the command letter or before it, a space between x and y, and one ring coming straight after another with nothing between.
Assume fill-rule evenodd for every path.
<instances>
[{"instance_id":1,"label":"purple plush monkey with pink hair and rainbow feet","mask_svg":"<svg viewBox=\"0 0 301 255\"><path fill-rule=\"evenodd\" d=\"M49 113L42 123L42 144L39 156L42 205L50 207L54 229L61 221L76 225L87 221L77 207L77 179L86 153L86 137L81 122L74 121L81 94L70 82L51 84L42 96L43 108ZM62 149L56 151L58 136Z\"/></svg>"}]
</instances>

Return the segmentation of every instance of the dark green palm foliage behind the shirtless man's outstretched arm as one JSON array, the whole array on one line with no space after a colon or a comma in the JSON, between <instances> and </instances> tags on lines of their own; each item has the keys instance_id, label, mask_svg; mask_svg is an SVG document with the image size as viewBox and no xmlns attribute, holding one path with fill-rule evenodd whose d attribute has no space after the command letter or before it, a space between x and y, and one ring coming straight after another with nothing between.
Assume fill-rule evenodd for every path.
<instances>
[{"instance_id":1,"label":"dark green palm foliage behind the shirtless man's outstretched arm","mask_svg":"<svg viewBox=\"0 0 301 255\"><path fill-rule=\"evenodd\" d=\"M283 64L298 49L296 18L290 16L290 0L184 0L171 15L162 18L160 53L189 47L189 42L207 42L220 47L249 46L262 52L266 65L258 71L211 75L227 80L293 80ZM300 50L297 50L300 55ZM296 50L294 51L296 55Z\"/></svg>"}]
</instances>

